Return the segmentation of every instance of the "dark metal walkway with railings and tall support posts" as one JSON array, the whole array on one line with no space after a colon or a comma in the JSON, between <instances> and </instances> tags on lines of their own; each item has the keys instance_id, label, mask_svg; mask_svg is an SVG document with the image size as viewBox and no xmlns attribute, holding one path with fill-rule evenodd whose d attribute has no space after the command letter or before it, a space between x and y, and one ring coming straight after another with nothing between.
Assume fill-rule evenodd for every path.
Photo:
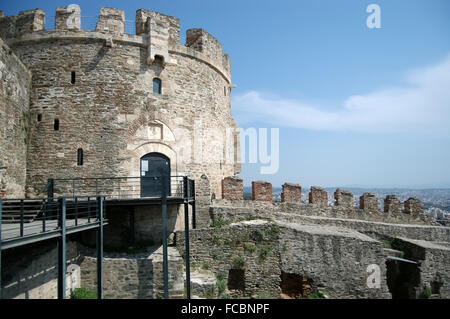
<instances>
[{"instance_id":1,"label":"dark metal walkway with railings and tall support posts","mask_svg":"<svg viewBox=\"0 0 450 319\"><path fill-rule=\"evenodd\" d=\"M195 183L186 176L151 177L160 195L142 197L141 177L49 179L44 199L0 199L0 299L1 251L47 239L58 240L58 298L66 298L66 236L96 229L97 296L103 298L103 226L106 207L161 205L163 227L164 298L169 298L167 204L184 205L186 242L186 294L189 299L189 205L195 228ZM148 184L148 180L146 181ZM170 187L162 185L170 184ZM93 194L93 195L89 195ZM55 195L59 197L56 199Z\"/></svg>"}]
</instances>

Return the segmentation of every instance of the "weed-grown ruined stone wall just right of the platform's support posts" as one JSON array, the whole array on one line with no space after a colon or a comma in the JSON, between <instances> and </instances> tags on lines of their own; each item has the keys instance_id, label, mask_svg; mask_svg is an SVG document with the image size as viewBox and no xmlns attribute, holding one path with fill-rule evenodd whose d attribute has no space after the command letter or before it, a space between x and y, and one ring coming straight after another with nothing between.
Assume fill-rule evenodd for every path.
<instances>
[{"instance_id":1,"label":"weed-grown ruined stone wall just right of the platform's support posts","mask_svg":"<svg viewBox=\"0 0 450 319\"><path fill-rule=\"evenodd\" d=\"M185 251L184 232L176 233L176 247ZM252 221L222 228L190 231L192 267L211 270L229 283L232 297L252 297L261 292L280 293L278 229L273 224ZM230 286L230 274L242 271L241 287ZM233 289L237 288L237 289Z\"/></svg>"}]
</instances>

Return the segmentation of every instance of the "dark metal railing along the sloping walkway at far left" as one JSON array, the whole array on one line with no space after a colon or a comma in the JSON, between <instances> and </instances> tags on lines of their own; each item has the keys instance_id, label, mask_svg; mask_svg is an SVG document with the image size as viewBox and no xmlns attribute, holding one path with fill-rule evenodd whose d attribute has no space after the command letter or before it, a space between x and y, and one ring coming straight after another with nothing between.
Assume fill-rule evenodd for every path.
<instances>
[{"instance_id":1,"label":"dark metal railing along the sloping walkway at far left","mask_svg":"<svg viewBox=\"0 0 450 319\"><path fill-rule=\"evenodd\" d=\"M104 207L100 207L104 205L101 199L97 196L0 200L2 248L15 247L22 239L38 241L39 235L63 228L98 224L105 212Z\"/></svg>"}]
</instances>

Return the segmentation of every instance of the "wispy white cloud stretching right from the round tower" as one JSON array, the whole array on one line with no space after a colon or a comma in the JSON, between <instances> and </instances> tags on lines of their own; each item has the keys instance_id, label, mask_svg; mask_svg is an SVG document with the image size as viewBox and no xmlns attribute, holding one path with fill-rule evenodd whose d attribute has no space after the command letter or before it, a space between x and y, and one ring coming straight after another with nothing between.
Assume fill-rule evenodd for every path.
<instances>
[{"instance_id":1,"label":"wispy white cloud stretching right from the round tower","mask_svg":"<svg viewBox=\"0 0 450 319\"><path fill-rule=\"evenodd\" d=\"M335 110L256 91L234 97L232 105L238 119L272 126L450 136L450 55L437 65L412 70L405 83L350 96Z\"/></svg>"}]
</instances>

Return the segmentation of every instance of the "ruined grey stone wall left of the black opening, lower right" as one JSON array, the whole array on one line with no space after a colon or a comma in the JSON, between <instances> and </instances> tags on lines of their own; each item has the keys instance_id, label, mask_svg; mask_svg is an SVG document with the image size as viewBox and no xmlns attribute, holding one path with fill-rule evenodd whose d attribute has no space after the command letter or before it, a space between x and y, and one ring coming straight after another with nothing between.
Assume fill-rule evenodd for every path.
<instances>
[{"instance_id":1,"label":"ruined grey stone wall left of the black opening, lower right","mask_svg":"<svg viewBox=\"0 0 450 319\"><path fill-rule=\"evenodd\" d=\"M281 269L324 287L334 298L390 298L380 242L329 226L280 225ZM367 286L367 267L380 269L380 288Z\"/></svg>"}]
</instances>

